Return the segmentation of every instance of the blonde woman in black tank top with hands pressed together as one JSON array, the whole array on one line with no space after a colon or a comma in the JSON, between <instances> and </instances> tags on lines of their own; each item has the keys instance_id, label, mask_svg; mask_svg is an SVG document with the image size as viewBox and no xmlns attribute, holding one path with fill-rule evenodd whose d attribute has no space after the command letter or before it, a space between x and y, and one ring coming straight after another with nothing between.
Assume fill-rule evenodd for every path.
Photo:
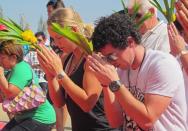
<instances>
[{"instance_id":1,"label":"blonde woman in black tank top with hands pressed together","mask_svg":"<svg viewBox=\"0 0 188 131\"><path fill-rule=\"evenodd\" d=\"M103 108L102 87L96 77L84 68L83 51L65 37L51 30L51 23L69 26L73 31L90 38L93 29L86 26L71 8L60 8L48 20L50 36L55 44L69 54L64 64L53 52L42 46L38 52L42 68L47 74L49 91L56 106L67 105L72 131L115 130L109 127Z\"/></svg>"}]
</instances>

